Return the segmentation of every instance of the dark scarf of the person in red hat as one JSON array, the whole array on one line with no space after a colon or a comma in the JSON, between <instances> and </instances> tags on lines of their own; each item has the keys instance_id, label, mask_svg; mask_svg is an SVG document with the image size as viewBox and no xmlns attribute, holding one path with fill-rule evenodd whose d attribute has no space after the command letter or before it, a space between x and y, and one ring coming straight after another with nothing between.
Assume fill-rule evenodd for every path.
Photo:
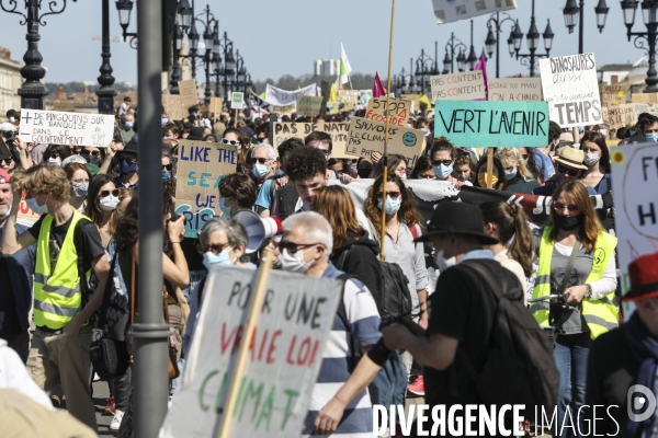
<instances>
[{"instance_id":1,"label":"dark scarf of the person in red hat","mask_svg":"<svg viewBox=\"0 0 658 438\"><path fill-rule=\"evenodd\" d=\"M644 325L637 311L626 323L626 344L631 348L633 357L639 362L639 372L635 379L635 384L642 384L654 391L656 381L656 368L658 367L658 339L654 337ZM633 408L633 406L628 406ZM626 430L632 437L639 437L643 430L651 427L655 415L642 423L628 419Z\"/></svg>"}]
</instances>

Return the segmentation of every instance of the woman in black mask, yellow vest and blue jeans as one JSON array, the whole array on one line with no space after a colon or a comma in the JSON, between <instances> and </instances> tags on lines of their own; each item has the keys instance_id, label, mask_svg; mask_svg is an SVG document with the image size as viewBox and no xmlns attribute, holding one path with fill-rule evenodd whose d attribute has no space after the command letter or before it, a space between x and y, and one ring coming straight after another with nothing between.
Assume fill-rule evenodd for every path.
<instances>
[{"instance_id":1,"label":"woman in black mask, yellow vest and blue jeans","mask_svg":"<svg viewBox=\"0 0 658 438\"><path fill-rule=\"evenodd\" d=\"M619 323L614 297L617 240L603 231L587 189L576 180L557 187L548 224L537 231L534 255L538 267L532 297L565 293L569 307L549 307L548 302L538 301L530 311L540 325L548 325L549 316L555 319L555 360L560 373L557 425L566 420L578 427L566 417L567 407L575 413L586 404L591 342ZM579 420L578 429L586 430L583 417L579 416ZM569 429L560 427L553 430L553 436L559 436L561 430Z\"/></svg>"}]
</instances>

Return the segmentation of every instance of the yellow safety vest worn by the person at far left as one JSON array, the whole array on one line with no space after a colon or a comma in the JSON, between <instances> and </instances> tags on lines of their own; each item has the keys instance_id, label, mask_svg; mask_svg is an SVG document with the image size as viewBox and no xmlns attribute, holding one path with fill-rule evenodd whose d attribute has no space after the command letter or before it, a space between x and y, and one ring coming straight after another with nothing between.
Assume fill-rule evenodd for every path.
<instances>
[{"instance_id":1,"label":"yellow safety vest worn by the person at far left","mask_svg":"<svg viewBox=\"0 0 658 438\"><path fill-rule=\"evenodd\" d=\"M50 273L50 228L53 217L46 215L36 241L34 268L34 324L52 330L63 328L81 311L82 292L78 274L78 252L73 243L76 224L84 215L73 210L71 224L57 257L55 272ZM87 273L87 280L91 269Z\"/></svg>"}]
</instances>

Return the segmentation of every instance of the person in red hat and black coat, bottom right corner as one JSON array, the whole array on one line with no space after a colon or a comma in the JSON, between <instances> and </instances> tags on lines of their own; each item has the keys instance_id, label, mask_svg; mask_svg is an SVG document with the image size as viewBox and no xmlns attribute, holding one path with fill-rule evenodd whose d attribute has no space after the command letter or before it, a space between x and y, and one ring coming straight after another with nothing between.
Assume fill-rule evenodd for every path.
<instances>
[{"instance_id":1,"label":"person in red hat and black coat, bottom right corner","mask_svg":"<svg viewBox=\"0 0 658 438\"><path fill-rule=\"evenodd\" d=\"M631 290L622 300L633 302L635 312L626 323L602 334L592 344L587 369L586 403L590 406L610 406L609 415L593 418L592 427L595 427L597 434L649 437L655 435L658 426L656 413L644 422L628 418L634 407L629 403L637 400L632 394L635 392L633 385L643 385L658 394L657 269L658 253L642 255L628 265ZM639 414L636 410L633 412Z\"/></svg>"}]
</instances>

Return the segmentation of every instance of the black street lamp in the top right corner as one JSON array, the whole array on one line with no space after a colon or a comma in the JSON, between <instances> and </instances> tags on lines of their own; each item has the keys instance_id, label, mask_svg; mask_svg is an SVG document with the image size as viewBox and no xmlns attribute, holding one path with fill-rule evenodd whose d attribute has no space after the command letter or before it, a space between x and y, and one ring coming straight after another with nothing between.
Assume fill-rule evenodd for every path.
<instances>
[{"instance_id":1,"label":"black street lamp in the top right corner","mask_svg":"<svg viewBox=\"0 0 658 438\"><path fill-rule=\"evenodd\" d=\"M655 93L658 91L658 78L656 78L656 35L658 28L658 1L643 0L642 2L642 20L644 21L647 32L632 32L635 24L635 11L637 10L638 0L622 0L622 11L624 13L624 24L626 25L626 36L628 41L635 37L633 44L636 48L646 50L649 56L649 70L647 71L647 88L645 93ZM647 45L645 44L648 44Z\"/></svg>"}]
</instances>

